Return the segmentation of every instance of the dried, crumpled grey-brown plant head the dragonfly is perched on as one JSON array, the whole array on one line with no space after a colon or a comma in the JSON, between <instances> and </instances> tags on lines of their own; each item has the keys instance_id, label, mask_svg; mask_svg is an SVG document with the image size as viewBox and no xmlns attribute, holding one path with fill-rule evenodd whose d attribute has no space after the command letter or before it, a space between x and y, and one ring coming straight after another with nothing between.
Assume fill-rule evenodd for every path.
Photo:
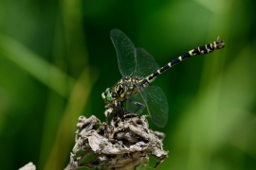
<instances>
[{"instance_id":1,"label":"dried, crumpled grey-brown plant head the dragonfly is perched on","mask_svg":"<svg viewBox=\"0 0 256 170\"><path fill-rule=\"evenodd\" d=\"M76 144L64 170L130 169L147 163L149 155L156 158L156 167L167 157L168 151L162 148L165 135L149 129L146 116L129 113L113 120L108 126L94 115L79 117ZM84 161L91 155L90 161Z\"/></svg>"}]
</instances>

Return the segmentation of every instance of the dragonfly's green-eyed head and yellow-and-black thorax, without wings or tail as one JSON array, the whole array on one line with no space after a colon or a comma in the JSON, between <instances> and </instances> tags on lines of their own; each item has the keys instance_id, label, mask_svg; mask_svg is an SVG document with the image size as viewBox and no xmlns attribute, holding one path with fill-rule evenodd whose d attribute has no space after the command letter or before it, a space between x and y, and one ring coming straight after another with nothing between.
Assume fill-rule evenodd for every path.
<instances>
[{"instance_id":1,"label":"dragonfly's green-eyed head and yellow-and-black thorax, without wings or tail","mask_svg":"<svg viewBox=\"0 0 256 170\"><path fill-rule=\"evenodd\" d=\"M149 82L145 78L123 76L114 87L107 88L101 96L105 103L113 103L114 101L122 103L148 86Z\"/></svg>"}]
</instances>

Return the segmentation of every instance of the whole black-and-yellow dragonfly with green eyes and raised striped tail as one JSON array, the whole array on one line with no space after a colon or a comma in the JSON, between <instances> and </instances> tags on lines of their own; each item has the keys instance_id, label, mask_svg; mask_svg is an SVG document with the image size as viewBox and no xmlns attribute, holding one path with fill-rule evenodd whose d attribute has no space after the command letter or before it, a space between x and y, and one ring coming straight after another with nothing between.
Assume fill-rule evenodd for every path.
<instances>
[{"instance_id":1,"label":"whole black-and-yellow dragonfly with green eyes and raised striped tail","mask_svg":"<svg viewBox=\"0 0 256 170\"><path fill-rule=\"evenodd\" d=\"M128 110L127 106L137 106L134 112L140 114L147 109L151 120L157 127L165 127L168 120L168 102L165 93L151 83L155 78L177 63L192 56L210 54L225 46L219 37L215 42L196 47L159 68L155 59L143 48L136 48L134 43L119 29L110 32L110 38L116 48L121 79L112 87L101 93L105 104L113 106L118 116ZM140 101L137 101L140 98ZM129 107L128 107L129 108Z\"/></svg>"}]
</instances>

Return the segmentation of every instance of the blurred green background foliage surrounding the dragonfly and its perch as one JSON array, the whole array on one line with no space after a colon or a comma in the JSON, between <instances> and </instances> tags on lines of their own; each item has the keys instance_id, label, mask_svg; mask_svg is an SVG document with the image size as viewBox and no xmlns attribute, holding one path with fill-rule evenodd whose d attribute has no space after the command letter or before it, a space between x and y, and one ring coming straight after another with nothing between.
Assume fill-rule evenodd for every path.
<instances>
[{"instance_id":1,"label":"blurred green background foliage surrounding the dragonfly and its perch","mask_svg":"<svg viewBox=\"0 0 256 170\"><path fill-rule=\"evenodd\" d=\"M0 162L64 169L80 115L105 121L101 93L121 77L109 38L119 28L162 66L204 43L154 84L168 98L157 169L256 169L256 2L2 0ZM152 159L154 164L155 160Z\"/></svg>"}]
</instances>

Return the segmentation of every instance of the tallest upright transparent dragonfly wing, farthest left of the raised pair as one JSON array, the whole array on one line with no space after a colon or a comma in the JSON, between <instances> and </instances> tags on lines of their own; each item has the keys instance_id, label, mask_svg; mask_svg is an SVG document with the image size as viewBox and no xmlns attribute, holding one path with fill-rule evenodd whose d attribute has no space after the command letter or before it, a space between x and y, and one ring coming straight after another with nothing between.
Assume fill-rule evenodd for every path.
<instances>
[{"instance_id":1,"label":"tallest upright transparent dragonfly wing, farthest left of the raised pair","mask_svg":"<svg viewBox=\"0 0 256 170\"><path fill-rule=\"evenodd\" d=\"M136 65L134 43L119 29L111 30L110 38L118 54L121 76L132 76Z\"/></svg>"}]
</instances>

